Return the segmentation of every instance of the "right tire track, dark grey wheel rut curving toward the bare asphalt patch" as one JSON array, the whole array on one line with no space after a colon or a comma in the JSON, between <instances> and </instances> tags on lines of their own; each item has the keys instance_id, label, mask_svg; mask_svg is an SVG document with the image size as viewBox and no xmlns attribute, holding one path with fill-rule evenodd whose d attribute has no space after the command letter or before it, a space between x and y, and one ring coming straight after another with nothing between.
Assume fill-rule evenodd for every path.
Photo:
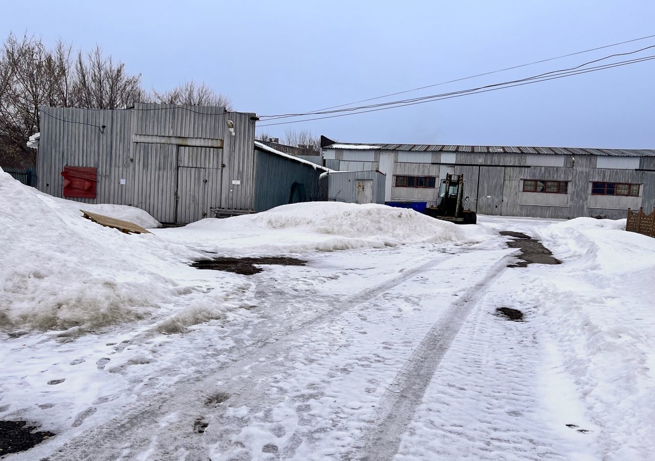
<instances>
[{"instance_id":1,"label":"right tire track, dark grey wheel rut curving toward the bare asphalt patch","mask_svg":"<svg viewBox=\"0 0 655 461\"><path fill-rule=\"evenodd\" d=\"M347 456L347 459L382 461L395 456L441 359L487 287L506 270L508 259L504 257L496 263L483 279L451 304L430 329L384 392L377 411L377 424L365 435L364 449Z\"/></svg>"}]
</instances>

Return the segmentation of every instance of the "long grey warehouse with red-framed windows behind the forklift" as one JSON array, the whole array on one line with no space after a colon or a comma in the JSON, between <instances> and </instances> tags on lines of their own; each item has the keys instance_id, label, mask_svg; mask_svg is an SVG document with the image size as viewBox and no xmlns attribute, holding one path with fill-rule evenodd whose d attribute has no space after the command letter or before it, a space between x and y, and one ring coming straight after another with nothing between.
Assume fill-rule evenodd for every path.
<instances>
[{"instance_id":1,"label":"long grey warehouse with red-framed windows behind the forklift","mask_svg":"<svg viewBox=\"0 0 655 461\"><path fill-rule=\"evenodd\" d=\"M356 144L322 137L322 155L333 169L386 173L385 201L434 205L439 180L454 173L464 174L464 194L481 214L618 219L628 208L655 207L655 150Z\"/></svg>"}]
</instances>

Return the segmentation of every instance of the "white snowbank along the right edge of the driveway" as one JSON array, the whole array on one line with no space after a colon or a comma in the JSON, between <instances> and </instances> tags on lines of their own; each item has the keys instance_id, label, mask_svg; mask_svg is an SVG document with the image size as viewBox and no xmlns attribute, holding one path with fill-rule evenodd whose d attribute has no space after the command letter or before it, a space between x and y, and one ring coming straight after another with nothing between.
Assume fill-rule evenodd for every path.
<instances>
[{"instance_id":1,"label":"white snowbank along the right edge of the driveway","mask_svg":"<svg viewBox=\"0 0 655 461\"><path fill-rule=\"evenodd\" d=\"M646 459L643 442L655 429L643 424L655 408L655 239L624 226L577 218L541 230L563 264L531 266L530 297L600 428L601 452Z\"/></svg>"}]
</instances>

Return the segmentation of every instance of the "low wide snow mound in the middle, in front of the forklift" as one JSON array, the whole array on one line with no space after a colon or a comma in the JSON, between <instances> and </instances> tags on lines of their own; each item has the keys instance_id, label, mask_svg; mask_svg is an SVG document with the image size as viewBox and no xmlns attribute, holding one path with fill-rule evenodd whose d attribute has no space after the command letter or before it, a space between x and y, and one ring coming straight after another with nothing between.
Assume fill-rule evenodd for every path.
<instances>
[{"instance_id":1,"label":"low wide snow mound in the middle, in front of the forklift","mask_svg":"<svg viewBox=\"0 0 655 461\"><path fill-rule=\"evenodd\" d=\"M207 218L159 235L214 251L274 254L335 251L408 243L475 241L484 226L458 226L409 209L386 205L309 202L227 219Z\"/></svg>"}]
</instances>

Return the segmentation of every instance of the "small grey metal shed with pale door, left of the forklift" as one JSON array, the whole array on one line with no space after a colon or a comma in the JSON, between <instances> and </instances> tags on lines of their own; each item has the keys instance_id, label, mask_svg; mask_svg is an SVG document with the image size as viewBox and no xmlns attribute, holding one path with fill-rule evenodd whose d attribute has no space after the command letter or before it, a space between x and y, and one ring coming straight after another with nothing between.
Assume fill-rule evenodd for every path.
<instances>
[{"instance_id":1,"label":"small grey metal shed with pale door, left of the forklift","mask_svg":"<svg viewBox=\"0 0 655 461\"><path fill-rule=\"evenodd\" d=\"M384 203L386 175L379 171L333 171L321 174L321 197L346 203Z\"/></svg>"}]
</instances>

